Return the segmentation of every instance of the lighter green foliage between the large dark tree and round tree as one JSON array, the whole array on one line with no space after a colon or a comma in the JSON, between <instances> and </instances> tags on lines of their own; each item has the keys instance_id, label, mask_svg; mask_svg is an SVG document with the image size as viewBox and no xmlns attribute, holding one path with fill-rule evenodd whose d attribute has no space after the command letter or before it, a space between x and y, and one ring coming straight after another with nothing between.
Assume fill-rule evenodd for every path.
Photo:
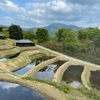
<instances>
[{"instance_id":1,"label":"lighter green foliage between the large dark tree and round tree","mask_svg":"<svg viewBox=\"0 0 100 100\"><path fill-rule=\"evenodd\" d=\"M35 39L34 30L23 31L23 38L33 41Z\"/></svg>"}]
</instances>

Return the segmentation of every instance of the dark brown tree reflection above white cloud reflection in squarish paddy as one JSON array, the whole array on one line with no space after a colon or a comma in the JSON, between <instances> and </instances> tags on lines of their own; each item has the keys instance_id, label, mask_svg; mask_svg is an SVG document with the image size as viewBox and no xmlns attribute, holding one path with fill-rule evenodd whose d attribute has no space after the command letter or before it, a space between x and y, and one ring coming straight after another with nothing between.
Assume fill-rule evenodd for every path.
<instances>
[{"instance_id":1,"label":"dark brown tree reflection above white cloud reflection in squarish paddy","mask_svg":"<svg viewBox=\"0 0 100 100\"><path fill-rule=\"evenodd\" d=\"M83 68L83 66L69 66L65 71L62 80L66 81L66 83L73 81L81 82L81 74L83 72Z\"/></svg>"}]
</instances>

